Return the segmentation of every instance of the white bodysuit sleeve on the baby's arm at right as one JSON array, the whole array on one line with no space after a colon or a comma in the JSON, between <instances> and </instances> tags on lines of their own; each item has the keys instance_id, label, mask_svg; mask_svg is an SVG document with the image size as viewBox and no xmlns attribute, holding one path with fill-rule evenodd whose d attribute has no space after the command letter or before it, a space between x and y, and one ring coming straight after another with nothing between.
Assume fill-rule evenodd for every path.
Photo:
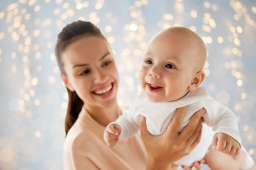
<instances>
[{"instance_id":1,"label":"white bodysuit sleeve on the baby's arm at right","mask_svg":"<svg viewBox=\"0 0 256 170\"><path fill-rule=\"evenodd\" d=\"M230 135L241 145L238 119L235 114L213 98L204 101L203 107L206 108L206 114L203 116L206 124L213 127L215 133L223 132Z\"/></svg>"}]
</instances>

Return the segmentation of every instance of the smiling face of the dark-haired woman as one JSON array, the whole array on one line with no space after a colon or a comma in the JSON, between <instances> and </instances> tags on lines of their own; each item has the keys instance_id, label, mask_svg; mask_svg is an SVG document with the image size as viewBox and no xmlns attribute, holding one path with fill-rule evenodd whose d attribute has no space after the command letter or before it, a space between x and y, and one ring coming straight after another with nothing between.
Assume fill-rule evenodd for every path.
<instances>
[{"instance_id":1,"label":"smiling face of the dark-haired woman","mask_svg":"<svg viewBox=\"0 0 256 170\"><path fill-rule=\"evenodd\" d=\"M68 45L62 57L67 75L61 78L86 106L111 107L117 103L119 75L106 40L83 36Z\"/></svg>"}]
</instances>

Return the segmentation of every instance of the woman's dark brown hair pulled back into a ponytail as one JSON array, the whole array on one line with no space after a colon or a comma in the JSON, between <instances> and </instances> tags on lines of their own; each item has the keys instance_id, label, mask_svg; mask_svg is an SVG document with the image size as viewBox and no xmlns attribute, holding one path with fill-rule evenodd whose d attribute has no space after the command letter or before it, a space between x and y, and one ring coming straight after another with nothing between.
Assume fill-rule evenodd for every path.
<instances>
[{"instance_id":1,"label":"woman's dark brown hair pulled back into a ponytail","mask_svg":"<svg viewBox=\"0 0 256 170\"><path fill-rule=\"evenodd\" d=\"M55 57L58 62L58 67L60 73L67 76L64 69L64 62L62 60L62 53L65 47L70 45L70 43L78 40L82 36L98 36L104 38L101 31L97 26L86 21L75 21L68 24L63 28L63 30L58 34L58 39L55 45ZM78 115L82 109L83 102L79 98L75 91L70 91L68 88L68 111L65 116L65 135L68 134L68 130L73 126L75 120L78 119Z\"/></svg>"}]
</instances>

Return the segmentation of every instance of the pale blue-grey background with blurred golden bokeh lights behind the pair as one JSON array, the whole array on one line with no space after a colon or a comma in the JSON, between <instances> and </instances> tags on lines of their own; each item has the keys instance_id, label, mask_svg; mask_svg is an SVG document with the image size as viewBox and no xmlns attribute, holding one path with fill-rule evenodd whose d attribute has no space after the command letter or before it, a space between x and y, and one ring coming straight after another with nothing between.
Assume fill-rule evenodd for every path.
<instances>
[{"instance_id":1,"label":"pale blue-grey background with blurred golden bokeh lights behind the pair","mask_svg":"<svg viewBox=\"0 0 256 170\"><path fill-rule=\"evenodd\" d=\"M68 94L54 46L78 19L95 23L110 42L120 106L142 90L138 71L152 36L170 26L198 33L208 49L202 86L234 111L256 161L256 1L14 0L0 2L0 169L63 169Z\"/></svg>"}]
</instances>

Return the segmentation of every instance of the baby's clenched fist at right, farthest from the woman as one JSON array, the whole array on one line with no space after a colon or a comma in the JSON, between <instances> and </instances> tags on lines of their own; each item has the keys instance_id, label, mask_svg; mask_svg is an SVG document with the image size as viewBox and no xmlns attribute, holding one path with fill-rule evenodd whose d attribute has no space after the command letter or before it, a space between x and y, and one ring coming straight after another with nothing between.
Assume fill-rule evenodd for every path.
<instances>
[{"instance_id":1,"label":"baby's clenched fist at right, farthest from the woman","mask_svg":"<svg viewBox=\"0 0 256 170\"><path fill-rule=\"evenodd\" d=\"M229 155L238 155L241 147L233 137L223 132L218 132L213 137L213 149Z\"/></svg>"}]
</instances>

